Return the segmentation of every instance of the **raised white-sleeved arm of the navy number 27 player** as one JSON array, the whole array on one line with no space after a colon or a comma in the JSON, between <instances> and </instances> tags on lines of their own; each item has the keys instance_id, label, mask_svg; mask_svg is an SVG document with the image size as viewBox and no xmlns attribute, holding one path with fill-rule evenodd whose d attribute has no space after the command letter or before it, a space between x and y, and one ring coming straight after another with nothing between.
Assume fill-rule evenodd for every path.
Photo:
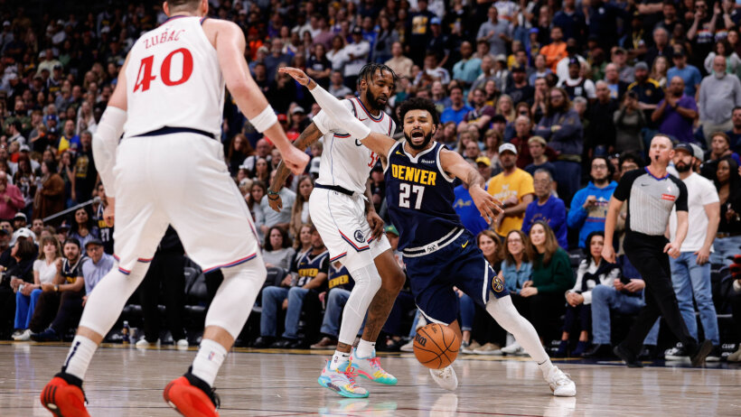
<instances>
[{"instance_id":1,"label":"raised white-sleeved arm of the navy number 27 player","mask_svg":"<svg viewBox=\"0 0 741 417\"><path fill-rule=\"evenodd\" d=\"M368 126L363 125L360 120L352 116L347 107L342 106L340 100L316 84L314 79L307 76L303 70L283 67L278 71L285 72L299 84L309 88L316 103L319 104L319 107L322 107L327 116L330 116L336 124L342 126L342 129L346 130L352 137L358 138L371 151L380 155L387 155L391 147L396 144L396 141L385 134L371 132Z\"/></svg>"}]
</instances>

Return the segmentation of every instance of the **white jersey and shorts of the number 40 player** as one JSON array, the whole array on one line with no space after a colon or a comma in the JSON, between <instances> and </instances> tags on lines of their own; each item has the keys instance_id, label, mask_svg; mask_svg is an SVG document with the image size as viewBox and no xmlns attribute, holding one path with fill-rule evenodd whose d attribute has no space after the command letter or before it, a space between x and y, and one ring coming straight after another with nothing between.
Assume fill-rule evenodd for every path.
<instances>
[{"instance_id":1,"label":"white jersey and shorts of the number 40 player","mask_svg":"<svg viewBox=\"0 0 741 417\"><path fill-rule=\"evenodd\" d=\"M202 19L175 16L142 35L126 80L127 122L114 168L119 270L151 260L168 224L204 271L259 262L249 209L215 139L224 78Z\"/></svg>"}]
</instances>

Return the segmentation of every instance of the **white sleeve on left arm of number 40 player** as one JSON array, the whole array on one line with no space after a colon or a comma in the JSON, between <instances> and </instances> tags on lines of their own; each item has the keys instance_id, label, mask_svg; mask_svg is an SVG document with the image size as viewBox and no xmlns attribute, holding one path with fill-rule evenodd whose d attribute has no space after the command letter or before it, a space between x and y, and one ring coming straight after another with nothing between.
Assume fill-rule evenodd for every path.
<instances>
[{"instance_id":1,"label":"white sleeve on left arm of number 40 player","mask_svg":"<svg viewBox=\"0 0 741 417\"><path fill-rule=\"evenodd\" d=\"M100 117L98 129L93 134L93 159L108 197L116 197L116 178L113 175L113 168L116 166L118 139L121 134L124 134L126 120L126 110L108 106L103 116Z\"/></svg>"}]
</instances>

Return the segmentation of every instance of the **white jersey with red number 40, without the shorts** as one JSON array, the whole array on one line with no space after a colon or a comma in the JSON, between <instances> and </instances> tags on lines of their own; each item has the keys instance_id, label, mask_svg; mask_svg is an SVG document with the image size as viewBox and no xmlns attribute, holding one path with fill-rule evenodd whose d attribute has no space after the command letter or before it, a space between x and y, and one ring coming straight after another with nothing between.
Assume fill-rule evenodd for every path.
<instances>
[{"instance_id":1,"label":"white jersey with red number 40, without the shorts","mask_svg":"<svg viewBox=\"0 0 741 417\"><path fill-rule=\"evenodd\" d=\"M165 126L221 134L224 77L201 24L200 17L174 16L131 48L124 137Z\"/></svg>"}]
</instances>

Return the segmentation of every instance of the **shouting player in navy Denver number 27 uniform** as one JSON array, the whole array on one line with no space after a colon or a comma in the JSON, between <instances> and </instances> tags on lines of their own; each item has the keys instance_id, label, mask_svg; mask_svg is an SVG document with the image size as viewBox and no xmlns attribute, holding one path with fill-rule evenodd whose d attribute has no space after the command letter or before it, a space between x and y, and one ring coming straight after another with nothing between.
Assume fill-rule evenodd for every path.
<instances>
[{"instance_id":1,"label":"shouting player in navy Denver number 27 uniform","mask_svg":"<svg viewBox=\"0 0 741 417\"><path fill-rule=\"evenodd\" d=\"M304 71L293 68L280 71L307 86L327 115L352 137L362 138L362 144L380 155L386 176L389 215L399 229L399 250L404 254L417 307L425 317L450 326L460 337L453 287L461 289L514 335L538 363L554 395L576 395L574 382L550 363L535 329L515 310L502 280L476 247L474 236L465 230L455 214L455 178L468 185L474 205L488 222L502 209L501 203L484 190L478 171L460 154L432 141L439 123L435 105L421 98L401 103L399 119L406 140L396 142L387 135L371 133ZM452 391L458 385L453 366L430 369L430 375L444 389Z\"/></svg>"}]
</instances>

